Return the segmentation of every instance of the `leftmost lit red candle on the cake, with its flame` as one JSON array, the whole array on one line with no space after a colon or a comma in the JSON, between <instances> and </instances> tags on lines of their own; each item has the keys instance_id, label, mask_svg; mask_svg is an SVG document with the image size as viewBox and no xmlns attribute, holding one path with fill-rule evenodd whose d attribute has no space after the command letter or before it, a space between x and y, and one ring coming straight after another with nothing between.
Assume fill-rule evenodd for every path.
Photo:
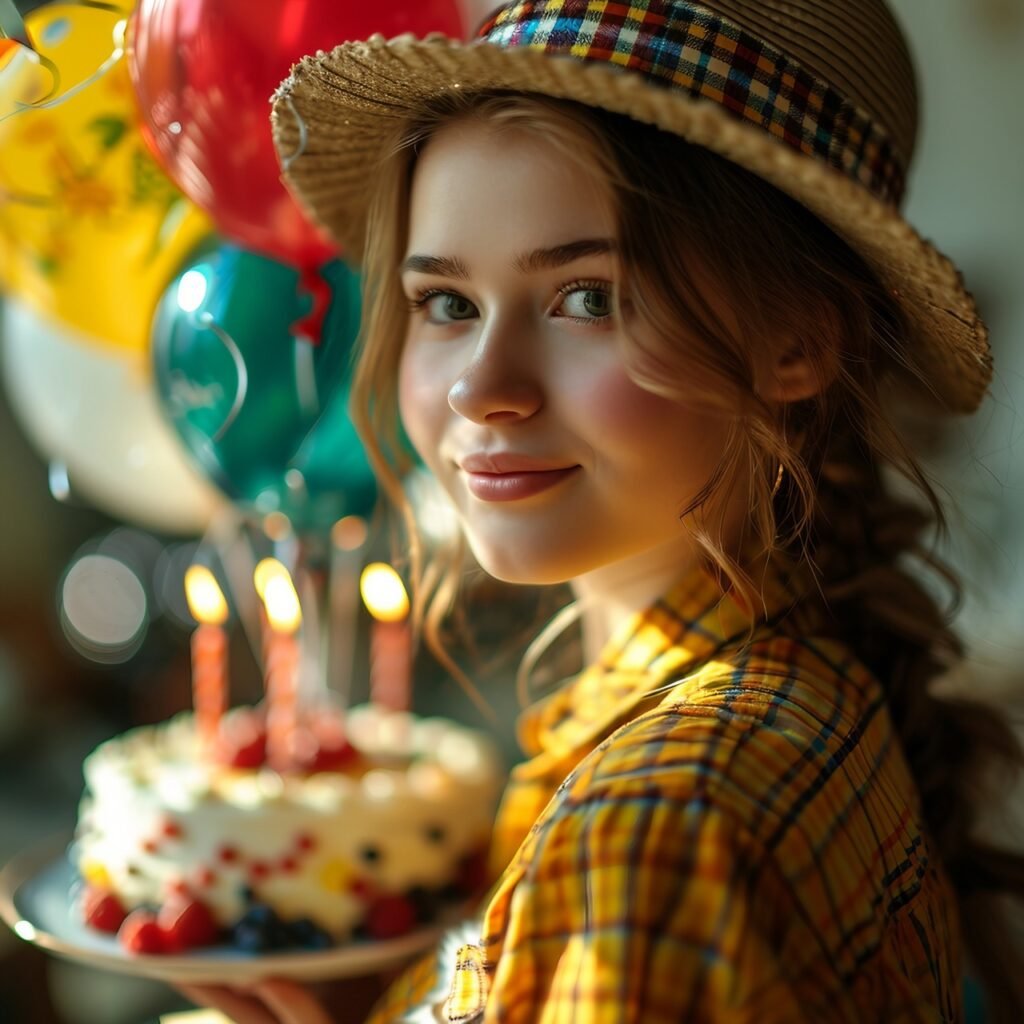
<instances>
[{"instance_id":1,"label":"leftmost lit red candle on the cake, with its flame","mask_svg":"<svg viewBox=\"0 0 1024 1024\"><path fill-rule=\"evenodd\" d=\"M209 751L227 707L227 602L203 565L185 570L185 599L199 623L191 638L193 709L200 743Z\"/></svg>"}]
</instances>

